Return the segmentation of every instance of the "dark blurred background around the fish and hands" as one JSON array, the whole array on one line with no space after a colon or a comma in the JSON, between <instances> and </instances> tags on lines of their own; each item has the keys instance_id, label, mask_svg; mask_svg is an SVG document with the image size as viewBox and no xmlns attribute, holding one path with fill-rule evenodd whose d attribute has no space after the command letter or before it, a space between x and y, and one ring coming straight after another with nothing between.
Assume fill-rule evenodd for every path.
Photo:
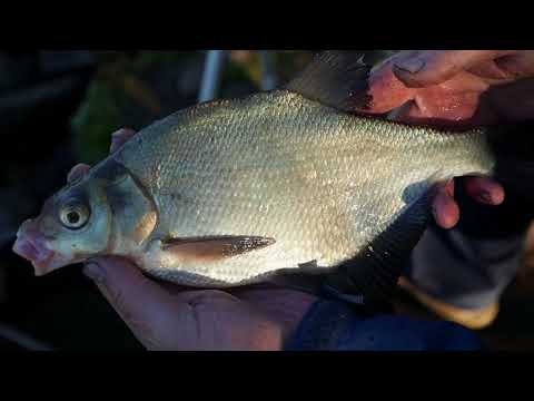
<instances>
[{"instance_id":1,"label":"dark blurred background around the fish and hands","mask_svg":"<svg viewBox=\"0 0 534 401\"><path fill-rule=\"evenodd\" d=\"M11 252L22 221L66 183L77 163L103 158L110 135L140 129L199 99L205 51L0 51L0 350L142 350L81 274L69 266L43 277ZM273 51L278 82L300 70L309 51ZM229 51L217 97L265 85L261 55ZM534 231L531 236L534 248ZM534 349L534 253L505 293L493 349ZM399 297L399 313L435 319Z\"/></svg>"}]
</instances>

